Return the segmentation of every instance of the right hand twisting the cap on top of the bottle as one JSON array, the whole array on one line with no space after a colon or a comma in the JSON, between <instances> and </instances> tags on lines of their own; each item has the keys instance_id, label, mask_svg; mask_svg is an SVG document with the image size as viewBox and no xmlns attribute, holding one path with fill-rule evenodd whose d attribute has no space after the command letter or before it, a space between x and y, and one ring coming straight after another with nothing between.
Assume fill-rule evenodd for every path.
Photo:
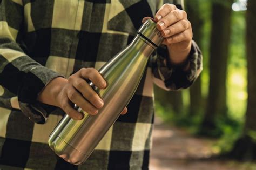
<instances>
[{"instance_id":1,"label":"right hand twisting the cap on top of the bottle","mask_svg":"<svg viewBox=\"0 0 256 170\"><path fill-rule=\"evenodd\" d=\"M150 17L143 18L143 23ZM187 19L187 13L173 4L164 4L154 16L157 29L165 38L163 44L167 46L170 61L174 65L186 63L192 45L192 26ZM184 66L184 70L189 64Z\"/></svg>"}]
</instances>

